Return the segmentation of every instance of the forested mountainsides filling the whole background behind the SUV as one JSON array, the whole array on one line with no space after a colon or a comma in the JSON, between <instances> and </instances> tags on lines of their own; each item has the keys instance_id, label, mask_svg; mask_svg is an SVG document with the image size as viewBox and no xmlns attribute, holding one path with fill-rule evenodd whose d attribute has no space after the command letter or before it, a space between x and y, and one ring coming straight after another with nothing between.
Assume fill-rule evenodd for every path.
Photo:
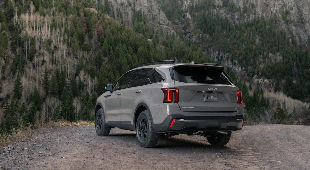
<instances>
[{"instance_id":1,"label":"forested mountainsides filling the whole background behind the SUV","mask_svg":"<svg viewBox=\"0 0 310 170\"><path fill-rule=\"evenodd\" d=\"M225 66L249 124L309 124L310 38L283 27L305 19L291 19L289 4L265 17L236 2L0 1L0 129L93 120L106 84L170 59Z\"/></svg>"}]
</instances>

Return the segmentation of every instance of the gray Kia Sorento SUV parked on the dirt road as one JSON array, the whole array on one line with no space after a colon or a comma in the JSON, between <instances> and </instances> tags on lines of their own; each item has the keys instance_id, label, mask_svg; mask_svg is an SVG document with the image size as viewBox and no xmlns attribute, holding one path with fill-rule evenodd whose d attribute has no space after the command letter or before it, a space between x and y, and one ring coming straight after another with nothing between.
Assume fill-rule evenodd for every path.
<instances>
[{"instance_id":1,"label":"gray Kia Sorento SUV parked on the dirt road","mask_svg":"<svg viewBox=\"0 0 310 170\"><path fill-rule=\"evenodd\" d=\"M178 134L224 146L243 126L242 93L216 64L145 63L105 88L95 106L99 136L118 127L135 131L141 147Z\"/></svg>"}]
</instances>

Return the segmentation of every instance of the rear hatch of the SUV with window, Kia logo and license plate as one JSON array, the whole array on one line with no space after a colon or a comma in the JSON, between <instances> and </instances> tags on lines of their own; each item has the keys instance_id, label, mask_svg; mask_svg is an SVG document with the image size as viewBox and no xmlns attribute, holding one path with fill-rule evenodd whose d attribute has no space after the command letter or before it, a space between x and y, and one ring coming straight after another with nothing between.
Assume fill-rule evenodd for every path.
<instances>
[{"instance_id":1,"label":"rear hatch of the SUV with window, Kia logo and license plate","mask_svg":"<svg viewBox=\"0 0 310 170\"><path fill-rule=\"evenodd\" d=\"M237 91L221 66L182 65L171 68L182 111L236 112Z\"/></svg>"}]
</instances>

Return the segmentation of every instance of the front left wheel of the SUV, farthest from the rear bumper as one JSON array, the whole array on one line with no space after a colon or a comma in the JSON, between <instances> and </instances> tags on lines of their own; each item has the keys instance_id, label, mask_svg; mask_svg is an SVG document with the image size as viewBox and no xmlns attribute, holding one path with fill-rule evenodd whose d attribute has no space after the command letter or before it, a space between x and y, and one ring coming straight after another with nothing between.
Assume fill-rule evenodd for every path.
<instances>
[{"instance_id":1,"label":"front left wheel of the SUV, farthest from the rear bumper","mask_svg":"<svg viewBox=\"0 0 310 170\"><path fill-rule=\"evenodd\" d=\"M98 136L108 136L110 133L111 127L105 122L102 108L100 108L96 113L95 128Z\"/></svg>"}]
</instances>

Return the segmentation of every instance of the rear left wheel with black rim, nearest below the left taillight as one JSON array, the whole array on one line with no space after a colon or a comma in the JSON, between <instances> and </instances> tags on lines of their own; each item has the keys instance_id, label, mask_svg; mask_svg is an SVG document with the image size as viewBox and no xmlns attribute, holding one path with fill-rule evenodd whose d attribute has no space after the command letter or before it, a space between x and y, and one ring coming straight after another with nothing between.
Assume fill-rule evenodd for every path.
<instances>
[{"instance_id":1,"label":"rear left wheel with black rim, nearest below the left taillight","mask_svg":"<svg viewBox=\"0 0 310 170\"><path fill-rule=\"evenodd\" d=\"M140 113L136 123L136 137L141 147L154 147L159 134L153 129L152 120L147 110Z\"/></svg>"}]
</instances>

